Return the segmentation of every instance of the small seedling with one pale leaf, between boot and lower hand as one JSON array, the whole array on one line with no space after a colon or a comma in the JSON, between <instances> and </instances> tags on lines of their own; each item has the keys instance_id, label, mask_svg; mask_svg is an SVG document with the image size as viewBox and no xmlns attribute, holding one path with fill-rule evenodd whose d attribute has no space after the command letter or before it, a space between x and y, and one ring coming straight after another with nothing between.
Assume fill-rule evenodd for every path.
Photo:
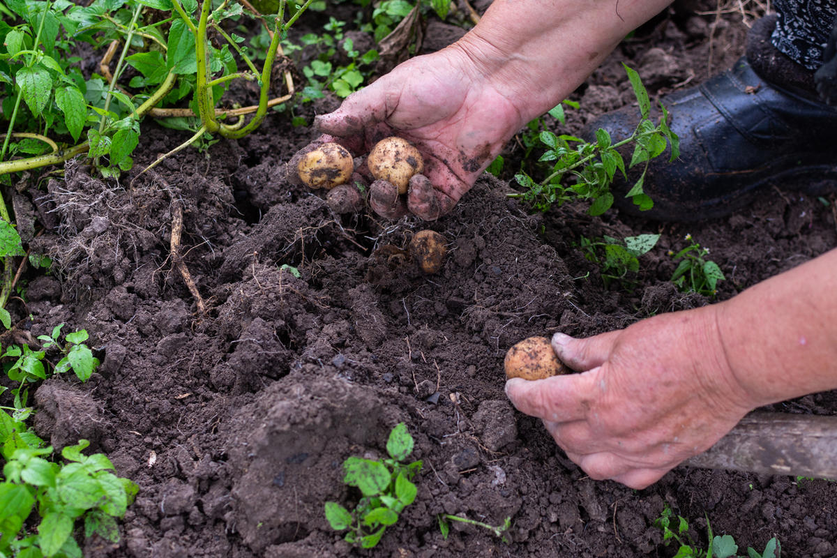
<instances>
[{"instance_id":1,"label":"small seedling with one pale leaf, between boot and lower hand","mask_svg":"<svg viewBox=\"0 0 837 558\"><path fill-rule=\"evenodd\" d=\"M654 248L658 240L659 234L640 234L624 240L608 236L601 240L582 237L579 246L585 259L598 264L606 289L614 281L619 281L624 289L631 289L635 283L628 279L628 274L639 271L639 256Z\"/></svg>"}]
</instances>

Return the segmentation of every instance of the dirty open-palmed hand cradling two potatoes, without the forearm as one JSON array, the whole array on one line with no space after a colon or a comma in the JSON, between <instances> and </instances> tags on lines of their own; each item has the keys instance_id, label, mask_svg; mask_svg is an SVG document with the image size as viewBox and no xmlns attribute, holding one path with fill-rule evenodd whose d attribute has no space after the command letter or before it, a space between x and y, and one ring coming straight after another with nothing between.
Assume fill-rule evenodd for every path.
<instances>
[{"instance_id":1,"label":"dirty open-palmed hand cradling two potatoes, without the forearm","mask_svg":"<svg viewBox=\"0 0 837 558\"><path fill-rule=\"evenodd\" d=\"M458 45L410 59L350 95L315 125L356 155L377 141L401 136L424 156L429 182L411 184L406 202L395 187L376 187L372 209L386 218L408 210L435 219L474 185L519 129L521 115Z\"/></svg>"}]
</instances>

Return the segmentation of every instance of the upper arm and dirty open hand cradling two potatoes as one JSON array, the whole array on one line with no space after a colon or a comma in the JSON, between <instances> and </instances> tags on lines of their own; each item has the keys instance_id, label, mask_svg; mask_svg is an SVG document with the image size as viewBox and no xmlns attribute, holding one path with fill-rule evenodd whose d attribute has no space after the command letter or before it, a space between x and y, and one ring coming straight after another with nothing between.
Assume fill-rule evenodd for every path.
<instances>
[{"instance_id":1,"label":"upper arm and dirty open hand cradling two potatoes","mask_svg":"<svg viewBox=\"0 0 837 558\"><path fill-rule=\"evenodd\" d=\"M437 218L473 186L526 122L567 97L670 0L495 0L456 43L410 59L316 125L356 153L385 136L412 141L434 192L372 192L384 217Z\"/></svg>"}]
</instances>

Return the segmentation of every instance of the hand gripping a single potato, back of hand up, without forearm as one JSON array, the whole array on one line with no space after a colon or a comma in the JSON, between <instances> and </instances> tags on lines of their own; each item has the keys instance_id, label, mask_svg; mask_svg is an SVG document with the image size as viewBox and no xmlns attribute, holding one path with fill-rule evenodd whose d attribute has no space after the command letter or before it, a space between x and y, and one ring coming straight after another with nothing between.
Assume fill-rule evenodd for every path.
<instances>
[{"instance_id":1,"label":"hand gripping a single potato, back of hand up, without forearm","mask_svg":"<svg viewBox=\"0 0 837 558\"><path fill-rule=\"evenodd\" d=\"M757 407L727 362L715 308L587 339L556 334L557 356L582 373L511 379L506 394L590 477L644 489Z\"/></svg>"}]
</instances>

